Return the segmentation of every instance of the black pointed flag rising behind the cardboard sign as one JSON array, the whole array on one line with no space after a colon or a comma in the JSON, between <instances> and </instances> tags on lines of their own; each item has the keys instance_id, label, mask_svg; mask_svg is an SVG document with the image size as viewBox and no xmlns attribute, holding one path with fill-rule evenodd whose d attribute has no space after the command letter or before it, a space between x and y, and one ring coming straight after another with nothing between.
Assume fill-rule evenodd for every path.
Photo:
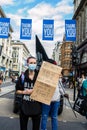
<instances>
[{"instance_id":1,"label":"black pointed flag rising behind the cardboard sign","mask_svg":"<svg viewBox=\"0 0 87 130\"><path fill-rule=\"evenodd\" d=\"M37 35L36 35L36 56L37 56L37 70L39 70L42 61L47 61L48 56Z\"/></svg>"}]
</instances>

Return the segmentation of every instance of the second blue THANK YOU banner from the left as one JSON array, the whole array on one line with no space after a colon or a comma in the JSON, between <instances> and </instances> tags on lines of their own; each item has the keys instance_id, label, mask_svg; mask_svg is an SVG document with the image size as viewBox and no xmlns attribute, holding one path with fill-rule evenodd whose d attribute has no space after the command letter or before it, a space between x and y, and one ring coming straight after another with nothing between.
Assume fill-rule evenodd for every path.
<instances>
[{"instance_id":1,"label":"second blue THANK YOU banner from the left","mask_svg":"<svg viewBox=\"0 0 87 130\"><path fill-rule=\"evenodd\" d=\"M32 19L21 19L20 39L31 39Z\"/></svg>"}]
</instances>

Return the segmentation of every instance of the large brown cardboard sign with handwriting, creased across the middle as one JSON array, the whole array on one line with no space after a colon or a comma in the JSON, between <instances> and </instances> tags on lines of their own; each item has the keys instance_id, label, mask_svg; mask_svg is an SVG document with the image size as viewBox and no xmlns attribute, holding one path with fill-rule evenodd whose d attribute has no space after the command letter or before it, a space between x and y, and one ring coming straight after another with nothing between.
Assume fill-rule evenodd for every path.
<instances>
[{"instance_id":1,"label":"large brown cardboard sign with handwriting, creased across the middle","mask_svg":"<svg viewBox=\"0 0 87 130\"><path fill-rule=\"evenodd\" d=\"M44 61L30 96L31 99L49 105L58 85L61 70L61 67Z\"/></svg>"}]
</instances>

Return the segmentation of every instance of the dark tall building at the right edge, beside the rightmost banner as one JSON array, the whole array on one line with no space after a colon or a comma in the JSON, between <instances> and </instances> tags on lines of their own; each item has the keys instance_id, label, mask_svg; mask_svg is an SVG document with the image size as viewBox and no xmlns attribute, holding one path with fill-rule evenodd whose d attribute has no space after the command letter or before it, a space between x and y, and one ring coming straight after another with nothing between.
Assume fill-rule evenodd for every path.
<instances>
[{"instance_id":1,"label":"dark tall building at the right edge, beside the rightmost banner","mask_svg":"<svg viewBox=\"0 0 87 130\"><path fill-rule=\"evenodd\" d=\"M87 0L74 0L74 15L76 20L76 45L79 53L77 71L87 75Z\"/></svg>"}]
</instances>

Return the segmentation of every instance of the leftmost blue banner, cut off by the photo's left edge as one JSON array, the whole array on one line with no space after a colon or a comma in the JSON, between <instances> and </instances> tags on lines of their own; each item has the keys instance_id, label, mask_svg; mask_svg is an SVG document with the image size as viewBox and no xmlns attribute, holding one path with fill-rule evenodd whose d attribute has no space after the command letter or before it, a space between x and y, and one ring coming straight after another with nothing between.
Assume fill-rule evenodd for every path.
<instances>
[{"instance_id":1,"label":"leftmost blue banner, cut off by the photo's left edge","mask_svg":"<svg viewBox=\"0 0 87 130\"><path fill-rule=\"evenodd\" d=\"M0 18L0 38L8 38L10 18Z\"/></svg>"}]
</instances>

